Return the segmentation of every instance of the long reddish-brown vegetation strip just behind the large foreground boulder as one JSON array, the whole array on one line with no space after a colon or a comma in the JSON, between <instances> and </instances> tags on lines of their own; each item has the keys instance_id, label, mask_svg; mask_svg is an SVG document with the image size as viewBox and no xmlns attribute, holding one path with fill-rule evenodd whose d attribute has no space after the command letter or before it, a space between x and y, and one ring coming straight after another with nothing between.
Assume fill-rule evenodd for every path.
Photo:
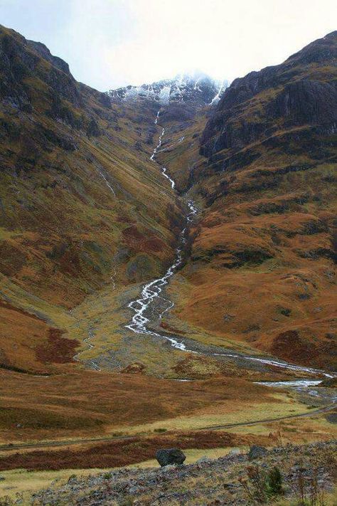
<instances>
[{"instance_id":1,"label":"long reddish-brown vegetation strip just behind the large foreground boulder","mask_svg":"<svg viewBox=\"0 0 337 506\"><path fill-rule=\"evenodd\" d=\"M113 468L154 458L159 448L224 448L249 444L270 444L267 436L239 436L227 432L186 432L155 436L134 437L109 441L90 448L70 450L37 450L15 453L0 458L0 470L25 469L80 469Z\"/></svg>"}]
</instances>

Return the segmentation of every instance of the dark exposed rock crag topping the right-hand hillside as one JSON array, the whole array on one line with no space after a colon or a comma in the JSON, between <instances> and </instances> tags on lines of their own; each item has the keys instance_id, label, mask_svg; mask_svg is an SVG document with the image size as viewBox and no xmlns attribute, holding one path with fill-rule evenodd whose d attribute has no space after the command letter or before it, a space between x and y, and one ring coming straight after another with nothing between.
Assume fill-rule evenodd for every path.
<instances>
[{"instance_id":1,"label":"dark exposed rock crag topping the right-hand hillside","mask_svg":"<svg viewBox=\"0 0 337 506\"><path fill-rule=\"evenodd\" d=\"M336 38L330 33L281 65L235 79L205 127L201 153L235 152L281 127L320 125L336 132Z\"/></svg>"}]
</instances>

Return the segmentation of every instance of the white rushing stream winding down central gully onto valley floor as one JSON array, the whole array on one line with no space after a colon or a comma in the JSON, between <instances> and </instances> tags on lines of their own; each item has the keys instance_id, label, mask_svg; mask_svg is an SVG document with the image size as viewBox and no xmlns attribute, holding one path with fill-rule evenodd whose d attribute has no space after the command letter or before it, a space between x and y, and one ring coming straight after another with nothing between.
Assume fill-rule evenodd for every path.
<instances>
[{"instance_id":1,"label":"white rushing stream winding down central gully onto valley floor","mask_svg":"<svg viewBox=\"0 0 337 506\"><path fill-rule=\"evenodd\" d=\"M220 94L221 88L219 90L219 94ZM157 124L157 122L158 122L159 111L157 112L156 120L154 121L155 124ZM161 135L159 136L159 142L156 145L156 147L154 148L154 152L151 154L151 157L150 157L150 159L153 162L156 161L155 160L156 153L158 152L158 150L161 147L164 133L165 133L165 129L163 128L163 130L161 131ZM174 188L175 181L173 181L173 179L171 179L171 177L169 177L166 174L165 167L161 167L161 174L164 177L166 177L166 179L169 179L169 181L171 182L171 187ZM149 324L149 322L151 322L151 320L149 317L147 317L145 315L146 310L149 310L149 307L155 302L156 298L161 297L160 294L161 294L164 286L169 283L170 278L176 272L177 268L181 265L182 260L183 260L183 246L185 246L185 244L187 242L186 236L188 233L188 226L190 225L191 221L193 221L193 218L194 218L194 216L196 216L196 213L197 213L197 209L196 209L196 206L194 205L193 201L188 201L188 214L186 216L186 226L181 231L180 246L178 246L178 248L176 249L176 258L175 258L173 264L166 271L164 276L162 276L162 278L157 278L155 280L150 281L149 283L146 283L146 285L144 285L144 287L141 289L141 295L137 300L132 300L131 302L129 302L128 307L134 311L134 316L132 317L132 321L128 325L126 325L125 327L129 330L132 330L132 332L135 332L137 334L148 334L148 335L152 335L154 337L164 338L171 343L172 347L174 347L176 349L181 349L181 350L188 352L188 353L199 354L200 352L197 352L196 350L189 349L188 347L186 347L186 344L184 342L178 341L177 339L174 339L173 337L166 335L164 333L159 334L158 332L154 332L152 330L149 330L147 327L147 324ZM163 298L164 297L161 297L161 299L163 299ZM174 303L171 300L167 300L167 299L164 299L164 300L166 300L166 302L168 302L168 307L166 307L166 309L164 309L159 314L159 316L158 316L159 319L161 319L161 317L164 315L164 313L166 311L169 311L174 307ZM304 372L304 373L316 374L316 375L321 374L321 375L326 376L328 378L333 378L336 376L336 374L327 373L326 371L322 371L321 369L313 369L311 367L304 367L304 366L299 366L296 364L289 364L288 362L285 362L284 360L262 359L259 357L251 357L249 355L233 354L233 353L212 353L212 352L210 352L208 354L213 357L229 357L229 358L235 358L235 359L240 359L240 360L257 362L257 363L265 364L265 365L269 365L269 366L280 367L282 369L289 369L294 372L302 372L302 373ZM287 384L287 386L299 386L302 388L303 387L307 388L309 386L319 384L319 382L320 382L319 380L317 380L317 381L316 380L312 380L312 381L311 380L299 380L299 381L294 381L293 382L294 385L289 385L289 381L275 381L275 382L268 382L268 385L269 386L286 386L286 384Z\"/></svg>"}]
</instances>

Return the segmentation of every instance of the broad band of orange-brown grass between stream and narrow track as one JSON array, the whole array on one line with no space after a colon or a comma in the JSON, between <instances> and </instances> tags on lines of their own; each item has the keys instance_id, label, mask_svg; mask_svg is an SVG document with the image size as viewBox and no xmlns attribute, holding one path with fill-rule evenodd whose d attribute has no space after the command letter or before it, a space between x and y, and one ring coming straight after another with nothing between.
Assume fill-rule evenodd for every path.
<instances>
[{"instance_id":1,"label":"broad band of orange-brown grass between stream and narrow track","mask_svg":"<svg viewBox=\"0 0 337 506\"><path fill-rule=\"evenodd\" d=\"M278 402L270 389L226 376L179 382L143 374L76 371L74 366L73 371L66 371L65 366L58 367L62 374L47 378L0 371L1 407L11 413L2 422L2 441L89 436L121 427L127 431L132 426L177 416L201 412L205 416L215 406L222 412L245 413L248 406ZM43 414L44 421L27 423L27 409L34 411L34 419ZM76 426L71 425L73 418L78 420Z\"/></svg>"}]
</instances>

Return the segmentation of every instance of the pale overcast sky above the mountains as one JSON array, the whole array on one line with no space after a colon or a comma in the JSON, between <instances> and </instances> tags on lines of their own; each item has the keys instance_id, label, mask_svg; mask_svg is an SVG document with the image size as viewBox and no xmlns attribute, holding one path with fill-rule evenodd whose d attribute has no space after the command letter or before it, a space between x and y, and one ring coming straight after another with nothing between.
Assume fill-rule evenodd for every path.
<instances>
[{"instance_id":1,"label":"pale overcast sky above the mountains","mask_svg":"<svg viewBox=\"0 0 337 506\"><path fill-rule=\"evenodd\" d=\"M0 23L105 91L185 70L232 80L336 29L335 0L0 0Z\"/></svg>"}]
</instances>

